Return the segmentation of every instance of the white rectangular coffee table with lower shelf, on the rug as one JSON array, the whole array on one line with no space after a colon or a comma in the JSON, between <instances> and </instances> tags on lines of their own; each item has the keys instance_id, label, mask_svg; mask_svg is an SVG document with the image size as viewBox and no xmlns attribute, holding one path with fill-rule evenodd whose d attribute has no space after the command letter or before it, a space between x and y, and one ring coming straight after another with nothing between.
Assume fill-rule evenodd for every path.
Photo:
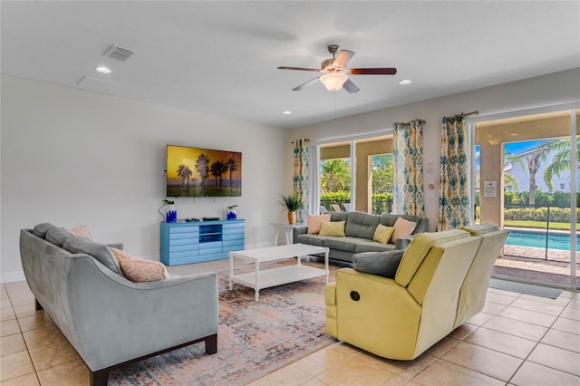
<instances>
[{"instance_id":1,"label":"white rectangular coffee table with lower shelf, on the rug","mask_svg":"<svg viewBox=\"0 0 580 386\"><path fill-rule=\"evenodd\" d=\"M302 256L324 253L324 269L302 264ZM260 270L260 263L296 258L295 265L285 265L277 268ZM234 275L234 258L256 265L255 272ZM254 288L256 302L259 300L262 288L275 285L285 285L300 280L326 275L328 283L328 248L324 246L307 246L291 244L287 246L269 246L266 248L232 251L229 253L229 290L234 283Z\"/></svg>"}]
</instances>

